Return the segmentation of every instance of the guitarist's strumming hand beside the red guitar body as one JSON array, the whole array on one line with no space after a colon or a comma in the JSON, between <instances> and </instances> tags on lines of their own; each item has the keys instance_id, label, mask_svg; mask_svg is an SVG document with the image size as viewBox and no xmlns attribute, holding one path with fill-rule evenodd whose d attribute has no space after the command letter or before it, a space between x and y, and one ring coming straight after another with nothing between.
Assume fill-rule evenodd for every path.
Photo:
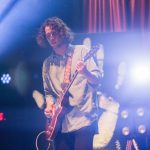
<instances>
[{"instance_id":1,"label":"guitarist's strumming hand beside the red guitar body","mask_svg":"<svg viewBox=\"0 0 150 150\"><path fill-rule=\"evenodd\" d=\"M44 114L47 118L51 118L55 114L55 105L52 100L47 100L46 101L46 108L44 110Z\"/></svg>"}]
</instances>

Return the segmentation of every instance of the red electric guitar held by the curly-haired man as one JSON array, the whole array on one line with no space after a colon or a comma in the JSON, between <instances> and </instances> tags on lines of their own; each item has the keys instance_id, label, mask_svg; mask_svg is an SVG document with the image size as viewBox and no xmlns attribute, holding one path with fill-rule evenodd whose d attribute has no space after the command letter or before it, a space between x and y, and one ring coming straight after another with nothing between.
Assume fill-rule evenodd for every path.
<instances>
[{"instance_id":1,"label":"red electric guitar held by the curly-haired man","mask_svg":"<svg viewBox=\"0 0 150 150\"><path fill-rule=\"evenodd\" d=\"M84 62L87 61L92 55L99 49L99 46L94 46L82 59ZM76 70L73 78L71 79L70 83L65 87L62 93L59 95L58 99L56 100L55 105L55 113L51 118L47 118L46 121L46 139L48 141L53 141L56 137L58 131L61 130L62 120L67 113L67 108L63 106L66 101L66 97L68 94L68 90L71 87L72 83L74 82L76 76L78 75L78 71Z\"/></svg>"}]
</instances>

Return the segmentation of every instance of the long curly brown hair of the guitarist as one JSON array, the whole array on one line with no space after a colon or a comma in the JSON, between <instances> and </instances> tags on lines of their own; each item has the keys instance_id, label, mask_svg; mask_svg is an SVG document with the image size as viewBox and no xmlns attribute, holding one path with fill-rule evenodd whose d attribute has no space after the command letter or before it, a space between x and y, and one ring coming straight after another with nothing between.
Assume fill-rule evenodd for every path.
<instances>
[{"instance_id":1,"label":"long curly brown hair of the guitarist","mask_svg":"<svg viewBox=\"0 0 150 150\"><path fill-rule=\"evenodd\" d=\"M60 18L52 17L48 18L40 27L36 37L37 43L40 46L47 47L49 45L45 35L46 26L50 26L56 30L65 43L71 43L73 41L74 35L71 29Z\"/></svg>"}]
</instances>

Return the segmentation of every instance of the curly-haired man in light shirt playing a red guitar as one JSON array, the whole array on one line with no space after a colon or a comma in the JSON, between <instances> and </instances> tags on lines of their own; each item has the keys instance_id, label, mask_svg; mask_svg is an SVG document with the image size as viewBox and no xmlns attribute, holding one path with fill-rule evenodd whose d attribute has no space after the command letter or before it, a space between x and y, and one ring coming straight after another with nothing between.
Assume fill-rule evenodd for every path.
<instances>
[{"instance_id":1,"label":"curly-haired man in light shirt playing a red guitar","mask_svg":"<svg viewBox=\"0 0 150 150\"><path fill-rule=\"evenodd\" d=\"M48 18L40 28L38 43L48 44L52 48L51 55L45 59L42 70L46 99L44 113L47 118L54 118L61 106L62 109L63 105L66 110L69 109L63 116L61 128L54 138L56 150L92 150L97 125L92 117L93 96L103 70L97 68L92 57L86 62L82 61L89 50L83 45L71 45L72 40L71 30L57 17ZM78 75L68 90L66 103L61 95L75 71ZM62 99L63 103L59 103Z\"/></svg>"}]
</instances>

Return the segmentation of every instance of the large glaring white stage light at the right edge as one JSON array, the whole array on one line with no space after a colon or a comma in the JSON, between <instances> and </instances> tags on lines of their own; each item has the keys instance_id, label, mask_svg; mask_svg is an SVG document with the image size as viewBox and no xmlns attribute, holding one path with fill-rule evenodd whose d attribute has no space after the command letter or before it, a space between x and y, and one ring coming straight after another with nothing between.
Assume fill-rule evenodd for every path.
<instances>
[{"instance_id":1,"label":"large glaring white stage light at the right edge","mask_svg":"<svg viewBox=\"0 0 150 150\"><path fill-rule=\"evenodd\" d=\"M131 80L136 84L145 84L150 81L150 65L148 63L134 64L130 68Z\"/></svg>"}]
</instances>

